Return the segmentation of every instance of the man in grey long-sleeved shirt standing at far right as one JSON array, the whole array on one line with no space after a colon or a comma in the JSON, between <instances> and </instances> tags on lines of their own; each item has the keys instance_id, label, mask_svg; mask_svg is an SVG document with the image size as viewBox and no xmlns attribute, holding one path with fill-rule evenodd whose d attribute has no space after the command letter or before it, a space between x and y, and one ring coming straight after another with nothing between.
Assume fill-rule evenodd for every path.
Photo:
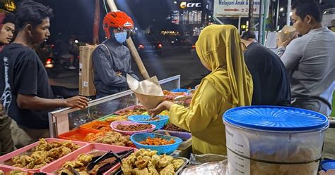
<instances>
[{"instance_id":1,"label":"man in grey long-sleeved shirt standing at far right","mask_svg":"<svg viewBox=\"0 0 335 175\"><path fill-rule=\"evenodd\" d=\"M302 37L292 42L277 39L277 54L290 77L292 105L330 115L335 88L335 34L322 26L322 11L315 0L298 1L292 9L293 26Z\"/></svg>"}]
</instances>

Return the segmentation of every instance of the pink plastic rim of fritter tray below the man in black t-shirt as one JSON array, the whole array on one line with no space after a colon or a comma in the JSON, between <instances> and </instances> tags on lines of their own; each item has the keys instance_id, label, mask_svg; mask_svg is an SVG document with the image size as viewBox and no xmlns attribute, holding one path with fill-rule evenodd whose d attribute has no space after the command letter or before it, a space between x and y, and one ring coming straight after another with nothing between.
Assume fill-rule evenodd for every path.
<instances>
[{"instance_id":1,"label":"pink plastic rim of fritter tray below the man in black t-shirt","mask_svg":"<svg viewBox=\"0 0 335 175\"><path fill-rule=\"evenodd\" d=\"M63 139L58 139L58 138L45 138L45 140L49 143L51 141L66 141L66 140L63 140ZM6 167L6 168L11 168L11 169L21 169L21 170L24 170L24 171L33 171L33 172L39 172L40 169L42 169L43 167L41 167L40 169L25 169L25 168L20 168L20 167L13 167L13 166L10 166L10 165L6 165L5 162L7 160L11 160L11 158L13 157L16 157L17 155L21 155L25 152L28 152L30 149L34 148L35 146L37 146L40 142L37 141L35 143L32 143L30 145L27 145L23 148L20 148L18 150L14 150L13 152L11 153L8 153L6 155L3 155L0 157L0 164L1 166L3 167ZM85 143L85 142L80 142L80 141L72 141L72 143L76 143L77 145L80 145L81 147L85 146L85 145L88 145L88 143ZM76 153L80 150L81 148L78 148L77 150L74 150L72 153ZM59 158L61 159L61 158ZM48 164L47 164L48 165ZM47 165L45 165L44 167L46 167Z\"/></svg>"}]
</instances>

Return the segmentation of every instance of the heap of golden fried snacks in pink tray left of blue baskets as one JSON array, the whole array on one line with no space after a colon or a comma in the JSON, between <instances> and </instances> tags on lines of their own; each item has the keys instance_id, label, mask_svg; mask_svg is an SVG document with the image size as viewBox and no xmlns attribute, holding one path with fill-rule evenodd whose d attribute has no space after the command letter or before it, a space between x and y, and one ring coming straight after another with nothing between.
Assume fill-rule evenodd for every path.
<instances>
[{"instance_id":1,"label":"heap of golden fried snacks in pink tray left of blue baskets","mask_svg":"<svg viewBox=\"0 0 335 175\"><path fill-rule=\"evenodd\" d=\"M99 136L93 140L90 140L90 142L121 146L133 145L133 143L130 141L130 136L124 136L115 131L107 132L104 136Z\"/></svg>"}]
</instances>

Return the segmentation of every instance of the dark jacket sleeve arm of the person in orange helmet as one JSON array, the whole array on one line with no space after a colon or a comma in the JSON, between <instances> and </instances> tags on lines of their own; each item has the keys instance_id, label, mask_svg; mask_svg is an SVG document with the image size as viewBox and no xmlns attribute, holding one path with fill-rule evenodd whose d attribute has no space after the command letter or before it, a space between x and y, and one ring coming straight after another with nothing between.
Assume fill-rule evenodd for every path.
<instances>
[{"instance_id":1,"label":"dark jacket sleeve arm of the person in orange helmet","mask_svg":"<svg viewBox=\"0 0 335 175\"><path fill-rule=\"evenodd\" d=\"M103 84L109 86L128 86L126 77L117 74L113 69L112 58L105 46L98 46L93 51L93 66Z\"/></svg>"}]
</instances>

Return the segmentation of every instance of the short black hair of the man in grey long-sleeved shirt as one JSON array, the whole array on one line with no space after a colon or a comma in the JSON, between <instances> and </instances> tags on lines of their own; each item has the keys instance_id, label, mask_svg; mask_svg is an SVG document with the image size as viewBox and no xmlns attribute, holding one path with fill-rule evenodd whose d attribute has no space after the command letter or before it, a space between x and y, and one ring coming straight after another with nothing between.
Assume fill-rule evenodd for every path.
<instances>
[{"instance_id":1,"label":"short black hair of the man in grey long-sleeved shirt","mask_svg":"<svg viewBox=\"0 0 335 175\"><path fill-rule=\"evenodd\" d=\"M322 22L322 12L319 4L315 0L300 0L292 5L292 10L295 10L301 19L307 15L311 15L317 22Z\"/></svg>"}]
</instances>

